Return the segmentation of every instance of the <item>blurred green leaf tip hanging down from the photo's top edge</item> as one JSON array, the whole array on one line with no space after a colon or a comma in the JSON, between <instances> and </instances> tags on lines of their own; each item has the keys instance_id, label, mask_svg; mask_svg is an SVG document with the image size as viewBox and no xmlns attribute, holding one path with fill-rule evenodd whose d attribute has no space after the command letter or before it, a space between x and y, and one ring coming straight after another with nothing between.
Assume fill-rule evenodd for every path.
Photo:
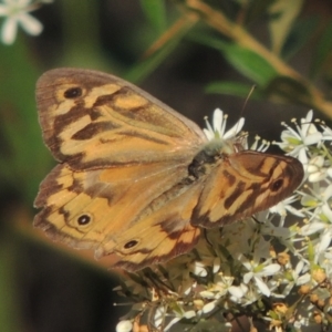
<instances>
[{"instance_id":1,"label":"blurred green leaf tip hanging down from the photo's top edge","mask_svg":"<svg viewBox=\"0 0 332 332\"><path fill-rule=\"evenodd\" d=\"M141 0L142 10L149 23L160 34L166 29L166 8L164 0Z\"/></svg>"}]
</instances>

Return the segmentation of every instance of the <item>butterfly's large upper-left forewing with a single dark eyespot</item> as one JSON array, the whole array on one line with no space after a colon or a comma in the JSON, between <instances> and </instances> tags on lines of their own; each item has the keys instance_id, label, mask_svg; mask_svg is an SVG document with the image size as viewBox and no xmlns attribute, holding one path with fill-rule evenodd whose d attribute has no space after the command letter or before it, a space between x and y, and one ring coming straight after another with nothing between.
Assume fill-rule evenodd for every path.
<instances>
[{"instance_id":1,"label":"butterfly's large upper-left forewing with a single dark eyespot","mask_svg":"<svg viewBox=\"0 0 332 332\"><path fill-rule=\"evenodd\" d=\"M100 72L61 69L37 84L43 137L75 169L183 160L206 141L198 126L138 87Z\"/></svg>"}]
</instances>

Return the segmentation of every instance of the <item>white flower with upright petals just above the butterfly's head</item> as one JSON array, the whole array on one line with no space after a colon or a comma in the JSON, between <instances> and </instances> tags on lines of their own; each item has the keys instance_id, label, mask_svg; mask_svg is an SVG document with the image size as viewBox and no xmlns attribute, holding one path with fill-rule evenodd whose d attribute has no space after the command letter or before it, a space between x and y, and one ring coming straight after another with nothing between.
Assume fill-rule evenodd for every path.
<instances>
[{"instance_id":1,"label":"white flower with upright petals just above the butterfly's head","mask_svg":"<svg viewBox=\"0 0 332 332\"><path fill-rule=\"evenodd\" d=\"M204 128L203 131L209 141L214 138L229 139L235 137L242 129L245 124L243 117L241 117L229 131L225 133L227 117L227 114L224 115L224 112L220 108L217 108L214 112L212 126L208 120L205 118L207 128Z\"/></svg>"}]
</instances>

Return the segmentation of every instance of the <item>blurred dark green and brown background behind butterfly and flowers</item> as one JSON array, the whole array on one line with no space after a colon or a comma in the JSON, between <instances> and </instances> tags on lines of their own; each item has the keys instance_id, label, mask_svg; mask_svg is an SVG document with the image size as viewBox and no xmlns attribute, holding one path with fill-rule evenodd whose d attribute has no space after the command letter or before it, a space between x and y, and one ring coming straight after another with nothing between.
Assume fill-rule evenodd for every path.
<instances>
[{"instance_id":1,"label":"blurred dark green and brown background behind butterfly and flowers","mask_svg":"<svg viewBox=\"0 0 332 332\"><path fill-rule=\"evenodd\" d=\"M118 277L32 227L38 186L55 164L35 81L59 66L102 70L200 126L220 107L230 124L243 115L251 137L278 141L282 121L310 108L332 116L332 2L55 0L31 14L40 35L19 28L11 45L0 42L0 330L114 331L126 312L113 305L126 302L112 291Z\"/></svg>"}]
</instances>

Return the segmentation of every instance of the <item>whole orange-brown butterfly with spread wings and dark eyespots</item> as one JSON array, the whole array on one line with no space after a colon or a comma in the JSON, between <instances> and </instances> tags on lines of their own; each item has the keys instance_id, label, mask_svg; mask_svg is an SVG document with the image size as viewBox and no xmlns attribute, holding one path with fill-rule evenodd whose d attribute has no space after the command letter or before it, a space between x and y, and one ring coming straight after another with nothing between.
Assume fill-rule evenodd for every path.
<instances>
[{"instance_id":1,"label":"whole orange-brown butterfly with spread wings and dark eyespots","mask_svg":"<svg viewBox=\"0 0 332 332\"><path fill-rule=\"evenodd\" d=\"M56 69L37 84L43 138L60 162L40 186L34 225L53 240L116 253L136 271L193 249L284 199L303 178L287 156L209 142L188 118L118 77Z\"/></svg>"}]
</instances>

